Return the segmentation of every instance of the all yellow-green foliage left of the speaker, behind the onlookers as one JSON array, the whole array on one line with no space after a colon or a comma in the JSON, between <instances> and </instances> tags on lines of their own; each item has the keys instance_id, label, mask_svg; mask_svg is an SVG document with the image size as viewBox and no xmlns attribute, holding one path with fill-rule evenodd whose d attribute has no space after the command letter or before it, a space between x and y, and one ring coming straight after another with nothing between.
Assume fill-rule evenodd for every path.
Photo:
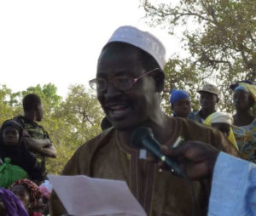
<instances>
[{"instance_id":1,"label":"all yellow-green foliage left of the speaker, behind the onlookers","mask_svg":"<svg viewBox=\"0 0 256 216\"><path fill-rule=\"evenodd\" d=\"M22 115L22 98L26 94L38 94L44 105L44 119L40 125L49 133L57 150L57 158L49 159L49 173L60 173L73 152L86 140L101 133L102 110L96 96L82 85L71 86L67 99L61 99L55 85L26 88L12 93L5 85L0 86L0 124Z\"/></svg>"}]
</instances>

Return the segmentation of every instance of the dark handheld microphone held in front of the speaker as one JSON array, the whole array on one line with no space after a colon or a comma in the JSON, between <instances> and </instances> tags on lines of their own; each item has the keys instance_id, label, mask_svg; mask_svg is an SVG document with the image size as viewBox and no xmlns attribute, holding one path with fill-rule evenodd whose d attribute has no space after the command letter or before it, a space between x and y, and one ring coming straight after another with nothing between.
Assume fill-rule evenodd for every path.
<instances>
[{"instance_id":1,"label":"dark handheld microphone held in front of the speaker","mask_svg":"<svg viewBox=\"0 0 256 216\"><path fill-rule=\"evenodd\" d=\"M137 146L139 149L146 149L151 152L154 156L159 158L162 162L171 169L172 174L185 178L185 175L181 168L174 162L169 156L165 156L160 151L159 142L154 139L154 135L150 128L139 127L136 128L131 136L132 144Z\"/></svg>"}]
</instances>

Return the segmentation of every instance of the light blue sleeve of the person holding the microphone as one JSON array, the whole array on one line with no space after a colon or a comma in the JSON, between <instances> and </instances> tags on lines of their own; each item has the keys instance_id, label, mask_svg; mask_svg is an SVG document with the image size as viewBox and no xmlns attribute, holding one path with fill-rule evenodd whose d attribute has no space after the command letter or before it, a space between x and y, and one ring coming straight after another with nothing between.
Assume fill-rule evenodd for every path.
<instances>
[{"instance_id":1,"label":"light blue sleeve of the person holding the microphone","mask_svg":"<svg viewBox=\"0 0 256 216\"><path fill-rule=\"evenodd\" d=\"M256 164L219 153L207 215L256 215Z\"/></svg>"}]
</instances>

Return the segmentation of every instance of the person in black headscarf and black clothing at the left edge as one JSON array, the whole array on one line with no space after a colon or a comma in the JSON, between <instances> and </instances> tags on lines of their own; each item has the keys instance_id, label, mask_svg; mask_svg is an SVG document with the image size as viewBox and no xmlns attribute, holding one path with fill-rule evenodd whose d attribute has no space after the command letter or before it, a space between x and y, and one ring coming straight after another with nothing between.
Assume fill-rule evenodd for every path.
<instances>
[{"instance_id":1,"label":"person in black headscarf and black clothing at the left edge","mask_svg":"<svg viewBox=\"0 0 256 216\"><path fill-rule=\"evenodd\" d=\"M36 157L22 143L22 127L14 120L3 122L0 130L0 158L9 157L11 164L23 168L32 180L43 180L42 168Z\"/></svg>"}]
</instances>

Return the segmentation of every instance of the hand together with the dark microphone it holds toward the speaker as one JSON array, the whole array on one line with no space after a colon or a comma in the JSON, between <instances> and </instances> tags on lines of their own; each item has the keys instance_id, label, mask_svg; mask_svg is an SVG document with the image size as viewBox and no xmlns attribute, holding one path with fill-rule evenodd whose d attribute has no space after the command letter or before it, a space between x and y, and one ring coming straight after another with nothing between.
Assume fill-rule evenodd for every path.
<instances>
[{"instance_id":1,"label":"hand together with the dark microphone it holds toward the speaker","mask_svg":"<svg viewBox=\"0 0 256 216\"><path fill-rule=\"evenodd\" d=\"M168 149L165 145L160 145L154 139L152 130L146 127L134 130L132 143L159 158L173 174L181 177L186 174L193 180L212 176L219 153L212 145L200 141L186 141L182 145Z\"/></svg>"}]
</instances>

